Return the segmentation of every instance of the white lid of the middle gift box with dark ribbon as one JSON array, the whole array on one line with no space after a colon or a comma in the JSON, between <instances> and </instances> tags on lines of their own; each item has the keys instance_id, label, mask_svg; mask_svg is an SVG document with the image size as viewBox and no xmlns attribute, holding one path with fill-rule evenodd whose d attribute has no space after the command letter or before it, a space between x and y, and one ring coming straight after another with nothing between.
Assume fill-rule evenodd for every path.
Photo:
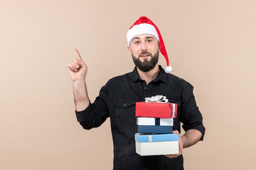
<instances>
[{"instance_id":1,"label":"white lid of the middle gift box with dark ribbon","mask_svg":"<svg viewBox=\"0 0 256 170\"><path fill-rule=\"evenodd\" d=\"M137 117L137 125L173 126L173 118Z\"/></svg>"}]
</instances>

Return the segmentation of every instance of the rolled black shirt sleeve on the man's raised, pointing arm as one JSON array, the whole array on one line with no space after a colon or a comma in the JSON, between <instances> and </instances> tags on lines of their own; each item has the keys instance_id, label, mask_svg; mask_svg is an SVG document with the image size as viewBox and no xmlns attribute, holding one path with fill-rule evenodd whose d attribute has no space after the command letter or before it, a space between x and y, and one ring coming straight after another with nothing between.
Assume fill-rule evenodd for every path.
<instances>
[{"instance_id":1,"label":"rolled black shirt sleeve on the man's raised, pointing arm","mask_svg":"<svg viewBox=\"0 0 256 170\"><path fill-rule=\"evenodd\" d=\"M109 117L108 101L109 87L108 83L101 88L99 96L96 97L93 103L83 111L76 111L77 121L84 129L97 128L103 124Z\"/></svg>"}]
</instances>

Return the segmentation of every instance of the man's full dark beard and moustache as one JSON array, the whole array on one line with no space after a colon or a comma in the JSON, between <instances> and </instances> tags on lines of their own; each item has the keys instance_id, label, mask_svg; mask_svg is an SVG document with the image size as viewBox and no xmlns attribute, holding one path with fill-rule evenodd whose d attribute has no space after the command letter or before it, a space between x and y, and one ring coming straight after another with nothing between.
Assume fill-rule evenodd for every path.
<instances>
[{"instance_id":1,"label":"man's full dark beard and moustache","mask_svg":"<svg viewBox=\"0 0 256 170\"><path fill-rule=\"evenodd\" d=\"M147 52L144 52L143 54L150 55L151 60L149 60L149 61L148 60L144 60L144 62L141 62L139 60L139 57L135 57L133 54L132 54L132 60L133 60L133 62L135 64L135 66L137 68L139 68L139 70L141 70L143 72L148 72L148 71L152 70L153 68L155 68L155 66L157 65L158 58L159 58L159 52L155 53L154 56L152 56L152 54L147 53Z\"/></svg>"}]
</instances>

